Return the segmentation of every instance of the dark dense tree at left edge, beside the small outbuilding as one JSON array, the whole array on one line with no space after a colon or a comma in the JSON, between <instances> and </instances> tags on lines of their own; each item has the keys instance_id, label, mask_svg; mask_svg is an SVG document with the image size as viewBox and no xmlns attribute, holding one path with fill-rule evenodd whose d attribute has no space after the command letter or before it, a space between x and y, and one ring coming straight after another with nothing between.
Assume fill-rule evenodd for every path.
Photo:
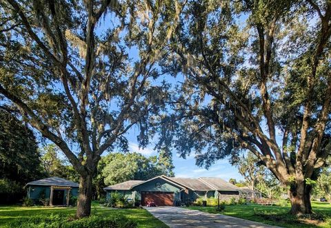
<instances>
[{"instance_id":1,"label":"dark dense tree at left edge, beside the small outbuilding","mask_svg":"<svg viewBox=\"0 0 331 228\"><path fill-rule=\"evenodd\" d=\"M0 202L13 203L23 186L42 176L38 144L31 129L0 107Z\"/></svg>"}]
</instances>

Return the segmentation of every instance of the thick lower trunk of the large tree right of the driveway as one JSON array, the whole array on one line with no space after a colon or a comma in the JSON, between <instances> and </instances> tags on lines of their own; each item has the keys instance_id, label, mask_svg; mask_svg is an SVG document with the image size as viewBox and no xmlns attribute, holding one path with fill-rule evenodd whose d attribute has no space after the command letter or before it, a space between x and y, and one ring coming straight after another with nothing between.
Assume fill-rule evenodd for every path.
<instances>
[{"instance_id":1,"label":"thick lower trunk of the large tree right of the driveway","mask_svg":"<svg viewBox=\"0 0 331 228\"><path fill-rule=\"evenodd\" d=\"M292 215L312 214L312 205L310 203L311 185L305 183L298 184L294 189L290 189L289 195L291 200Z\"/></svg>"}]
</instances>

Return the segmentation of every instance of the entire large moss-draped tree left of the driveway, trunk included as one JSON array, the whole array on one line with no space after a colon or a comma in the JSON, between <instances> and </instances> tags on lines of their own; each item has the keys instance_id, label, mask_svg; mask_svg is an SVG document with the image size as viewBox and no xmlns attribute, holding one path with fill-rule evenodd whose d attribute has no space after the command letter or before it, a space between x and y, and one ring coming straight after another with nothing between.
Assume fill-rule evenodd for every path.
<instances>
[{"instance_id":1,"label":"entire large moss-draped tree left of the driveway, trunk included","mask_svg":"<svg viewBox=\"0 0 331 228\"><path fill-rule=\"evenodd\" d=\"M81 176L77 217L90 215L106 150L128 149L164 107L157 60L177 27L177 1L1 1L0 94L56 144ZM132 52L137 52L132 56Z\"/></svg>"}]
</instances>

